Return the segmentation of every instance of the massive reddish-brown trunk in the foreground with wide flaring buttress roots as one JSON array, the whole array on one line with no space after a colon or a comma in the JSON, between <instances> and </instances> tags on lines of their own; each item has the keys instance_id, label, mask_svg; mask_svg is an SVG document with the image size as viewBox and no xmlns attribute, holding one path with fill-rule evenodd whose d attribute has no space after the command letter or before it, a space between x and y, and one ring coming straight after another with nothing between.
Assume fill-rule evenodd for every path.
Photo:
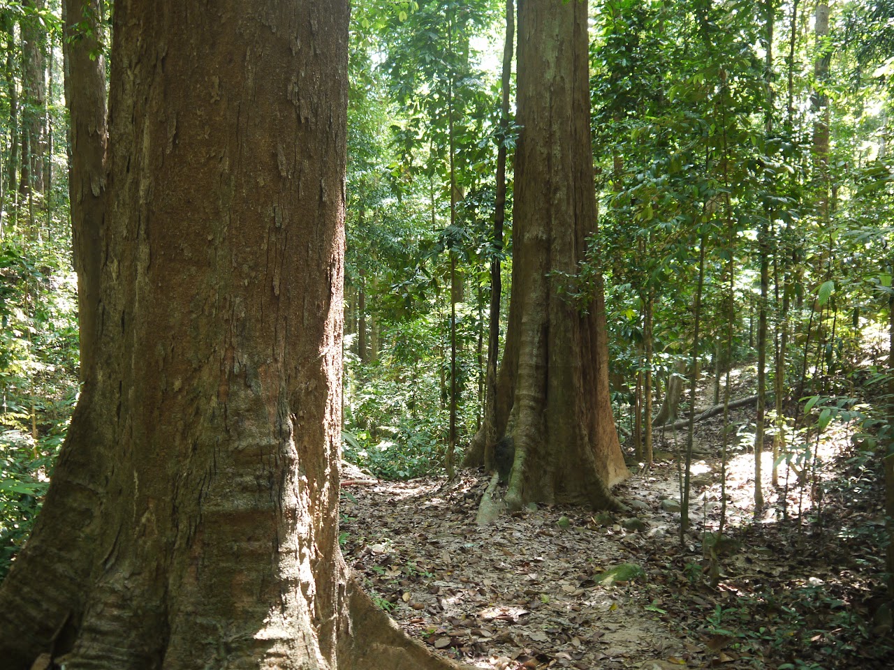
<instances>
[{"instance_id":1,"label":"massive reddish-brown trunk in the foreground with wide flaring buttress roots","mask_svg":"<svg viewBox=\"0 0 894 670\"><path fill-rule=\"evenodd\" d=\"M450 666L338 548L347 23L116 2L97 373L0 592L4 668Z\"/></svg>"}]
</instances>

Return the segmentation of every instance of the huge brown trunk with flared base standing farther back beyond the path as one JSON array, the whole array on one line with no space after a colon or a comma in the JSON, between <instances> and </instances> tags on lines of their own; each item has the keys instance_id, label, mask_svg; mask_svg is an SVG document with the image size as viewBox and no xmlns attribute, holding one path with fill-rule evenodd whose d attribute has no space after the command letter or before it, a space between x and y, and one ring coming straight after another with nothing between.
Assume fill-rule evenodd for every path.
<instances>
[{"instance_id":1,"label":"huge brown trunk with flared base standing farther back beyond the path","mask_svg":"<svg viewBox=\"0 0 894 670\"><path fill-rule=\"evenodd\" d=\"M595 233L586 2L519 3L519 103L510 326L501 378L515 444L510 507L616 507L628 475L611 415L601 281L561 294ZM592 259L591 259L592 260Z\"/></svg>"}]
</instances>

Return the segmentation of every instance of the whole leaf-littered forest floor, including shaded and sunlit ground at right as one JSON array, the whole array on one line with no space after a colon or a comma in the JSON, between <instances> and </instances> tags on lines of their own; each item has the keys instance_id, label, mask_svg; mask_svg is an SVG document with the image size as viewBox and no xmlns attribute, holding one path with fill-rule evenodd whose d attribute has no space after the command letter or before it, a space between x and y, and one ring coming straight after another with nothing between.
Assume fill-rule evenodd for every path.
<instances>
[{"instance_id":1,"label":"whole leaf-littered forest floor, including shaded and sunlit ground at right","mask_svg":"<svg viewBox=\"0 0 894 670\"><path fill-rule=\"evenodd\" d=\"M753 415L735 419L747 426ZM736 445L717 543L721 423L697 424L682 542L669 432L652 469L617 487L625 515L540 506L479 527L484 473L450 486L348 482L345 556L410 635L481 668L894 667L890 611L878 610L877 458L854 456L848 427L833 423L815 484L789 473L787 487L782 469L772 487L764 460L767 504L755 515L754 455Z\"/></svg>"}]
</instances>

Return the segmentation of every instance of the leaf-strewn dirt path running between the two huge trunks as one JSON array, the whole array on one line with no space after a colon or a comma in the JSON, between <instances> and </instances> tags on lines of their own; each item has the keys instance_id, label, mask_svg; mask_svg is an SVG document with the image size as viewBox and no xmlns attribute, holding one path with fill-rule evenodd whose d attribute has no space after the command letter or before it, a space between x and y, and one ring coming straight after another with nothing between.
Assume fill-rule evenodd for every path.
<instances>
[{"instance_id":1,"label":"leaf-strewn dirt path running between the two huge trunks","mask_svg":"<svg viewBox=\"0 0 894 670\"><path fill-rule=\"evenodd\" d=\"M638 667L691 651L629 582L645 577L648 545L673 541L669 515L626 532L579 510L540 508L478 528L485 479L446 492L441 483L364 486L342 508L354 517L342 523L352 565L411 634L493 668ZM606 571L621 564L643 572L611 583Z\"/></svg>"}]
</instances>

